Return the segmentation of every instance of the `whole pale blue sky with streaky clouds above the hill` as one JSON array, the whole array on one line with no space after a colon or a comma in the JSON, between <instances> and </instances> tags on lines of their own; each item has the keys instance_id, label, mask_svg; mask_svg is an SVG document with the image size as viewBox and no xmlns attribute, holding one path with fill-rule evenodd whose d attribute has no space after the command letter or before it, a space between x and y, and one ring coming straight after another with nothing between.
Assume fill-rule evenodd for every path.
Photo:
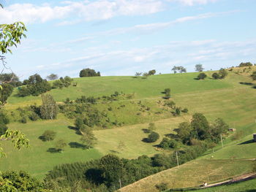
<instances>
[{"instance_id":1,"label":"whole pale blue sky with streaky clouds above the hill","mask_svg":"<svg viewBox=\"0 0 256 192\"><path fill-rule=\"evenodd\" d=\"M28 29L5 55L21 80L78 77L85 68L116 76L256 63L255 0L0 1L0 23Z\"/></svg>"}]
</instances>

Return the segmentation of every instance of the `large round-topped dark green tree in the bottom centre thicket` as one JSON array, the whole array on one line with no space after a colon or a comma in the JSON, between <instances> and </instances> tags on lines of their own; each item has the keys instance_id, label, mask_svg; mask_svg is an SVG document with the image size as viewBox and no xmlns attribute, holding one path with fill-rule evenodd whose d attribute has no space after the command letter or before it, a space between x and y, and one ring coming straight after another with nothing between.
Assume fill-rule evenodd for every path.
<instances>
[{"instance_id":1,"label":"large round-topped dark green tree in the bottom centre thicket","mask_svg":"<svg viewBox=\"0 0 256 192\"><path fill-rule=\"evenodd\" d=\"M116 155L105 155L99 161L99 169L102 170L102 177L108 185L119 183L121 188L121 177L124 172L123 163Z\"/></svg>"}]
</instances>

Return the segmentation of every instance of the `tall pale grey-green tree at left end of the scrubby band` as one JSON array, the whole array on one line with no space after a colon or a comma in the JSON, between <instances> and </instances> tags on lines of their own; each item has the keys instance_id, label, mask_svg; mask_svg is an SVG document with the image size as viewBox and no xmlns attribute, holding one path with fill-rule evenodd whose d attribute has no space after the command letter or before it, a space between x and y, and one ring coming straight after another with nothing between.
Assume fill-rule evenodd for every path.
<instances>
[{"instance_id":1,"label":"tall pale grey-green tree at left end of the scrubby band","mask_svg":"<svg viewBox=\"0 0 256 192\"><path fill-rule=\"evenodd\" d=\"M40 114L43 119L56 119L58 114L58 106L53 96L50 94L42 94L42 106L40 107Z\"/></svg>"}]
</instances>

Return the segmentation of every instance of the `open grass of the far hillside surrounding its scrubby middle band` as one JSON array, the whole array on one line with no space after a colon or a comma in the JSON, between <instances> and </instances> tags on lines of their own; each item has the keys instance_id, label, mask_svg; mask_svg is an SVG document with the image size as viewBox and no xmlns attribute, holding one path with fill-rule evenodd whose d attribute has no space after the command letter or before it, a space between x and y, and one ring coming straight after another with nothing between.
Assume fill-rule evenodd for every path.
<instances>
[{"instance_id":1,"label":"open grass of the far hillside surrounding its scrubby middle band","mask_svg":"<svg viewBox=\"0 0 256 192\"><path fill-rule=\"evenodd\" d=\"M227 122L236 123L236 128L243 130L244 126L255 120L255 89L246 85L240 85L238 82L249 82L249 78L231 74L225 80L204 81L194 80L197 74L163 74L154 77L148 77L148 80L133 79L132 77L92 77L78 79L78 87L70 87L63 90L54 90L51 93L56 94L56 100L62 101L69 97L75 99L80 95L108 95L114 91L124 91L124 93L136 93L136 97L154 98L161 96L160 93L164 88L171 88L173 99L179 106L188 107L190 114L192 112L203 112L213 120L222 117ZM160 82L160 83L159 83ZM123 87L122 87L123 86ZM74 89L74 90L73 90ZM78 91L75 91L77 90ZM86 90L90 90L88 93ZM84 92L83 92L84 91ZM99 94L99 95L98 95ZM58 97L57 97L58 96ZM246 99L244 99L246 98ZM11 97L9 106L23 105L28 103L29 98L17 99ZM37 99L34 98L33 99ZM29 101L33 103L35 100ZM148 100L155 104L159 99ZM19 102L19 103L18 103ZM124 108L124 110L126 110ZM119 112L118 115L121 115ZM132 115L131 115L132 117ZM162 117L163 118L163 117ZM166 118L166 117L165 117ZM178 123L189 120L191 115L181 116L178 118L167 118L156 122L157 131L163 137L164 134L170 133ZM154 118L147 121L153 121ZM148 123L137 124L134 126L125 126L115 129L106 129L94 131L98 139L98 144L93 150L73 149L69 146L62 154L52 154L46 152L49 147L53 147L52 142L42 142L37 139L46 129L57 131L59 138L64 138L67 142L79 142L79 136L74 131L67 128L72 123L64 120L56 121L39 121L36 123L20 124L13 123L12 128L20 128L31 139L31 148L12 153L10 146L6 147L9 158L1 159L0 168L5 169L26 169L33 175L42 178L48 170L54 165L69 163L74 161L86 161L91 158L99 158L102 154L116 153L121 157L135 158L138 155L151 155L156 153L154 144L141 142L146 137L142 128L146 128ZM247 130L247 129L246 129ZM248 128L247 134L255 130ZM228 140L228 139L227 139ZM123 150L118 149L118 142L124 141L126 147ZM246 145L244 145L246 146ZM50 159L50 161L49 161ZM33 164L31 163L33 162ZM34 163L37 162L37 163Z\"/></svg>"}]
</instances>

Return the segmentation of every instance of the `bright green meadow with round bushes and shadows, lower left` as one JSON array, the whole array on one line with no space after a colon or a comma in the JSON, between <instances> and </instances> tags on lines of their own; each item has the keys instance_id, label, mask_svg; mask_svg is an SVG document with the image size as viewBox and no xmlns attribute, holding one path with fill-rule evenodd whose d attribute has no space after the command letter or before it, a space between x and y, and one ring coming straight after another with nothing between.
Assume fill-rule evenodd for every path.
<instances>
[{"instance_id":1,"label":"bright green meadow with round bushes and shadows, lower left","mask_svg":"<svg viewBox=\"0 0 256 192\"><path fill-rule=\"evenodd\" d=\"M10 143L2 142L7 152L7 158L1 159L1 171L5 170L26 170L33 176L42 179L53 166L66 164L76 161L89 161L102 156L95 149L83 150L80 148L69 147L69 142L79 142L80 137L69 128L69 123L65 120L38 121L36 123L12 123L10 128L20 129L30 140L28 149L20 151L14 150ZM42 142L38 139L45 130L57 132L56 139L53 142ZM50 147L55 147L58 139L64 139L67 147L64 153L49 153Z\"/></svg>"}]
</instances>

